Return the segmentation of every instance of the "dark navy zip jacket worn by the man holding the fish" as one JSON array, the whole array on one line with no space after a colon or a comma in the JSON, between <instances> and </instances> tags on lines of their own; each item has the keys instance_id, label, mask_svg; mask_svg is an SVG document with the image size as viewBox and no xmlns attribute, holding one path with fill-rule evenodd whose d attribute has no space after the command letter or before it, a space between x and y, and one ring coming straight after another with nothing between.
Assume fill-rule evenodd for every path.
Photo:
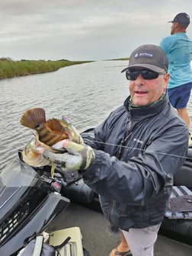
<instances>
[{"instance_id":1,"label":"dark navy zip jacket worn by the man holding the fish","mask_svg":"<svg viewBox=\"0 0 192 256\"><path fill-rule=\"evenodd\" d=\"M144 228L162 222L173 175L181 169L188 130L168 97L130 108L130 97L84 134L95 159L85 183L100 195L104 215L117 228Z\"/></svg>"}]
</instances>

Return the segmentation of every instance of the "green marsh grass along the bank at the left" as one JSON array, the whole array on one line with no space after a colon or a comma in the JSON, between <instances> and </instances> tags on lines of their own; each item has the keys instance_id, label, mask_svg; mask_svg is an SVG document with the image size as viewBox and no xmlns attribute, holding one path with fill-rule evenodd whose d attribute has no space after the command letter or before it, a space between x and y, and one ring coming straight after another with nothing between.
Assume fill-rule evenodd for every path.
<instances>
[{"instance_id":1,"label":"green marsh grass along the bank at the left","mask_svg":"<svg viewBox=\"0 0 192 256\"><path fill-rule=\"evenodd\" d=\"M9 58L0 58L0 79L13 78L21 75L32 75L53 72L65 66L72 66L91 61L70 61L67 59L26 60L13 61Z\"/></svg>"}]
</instances>

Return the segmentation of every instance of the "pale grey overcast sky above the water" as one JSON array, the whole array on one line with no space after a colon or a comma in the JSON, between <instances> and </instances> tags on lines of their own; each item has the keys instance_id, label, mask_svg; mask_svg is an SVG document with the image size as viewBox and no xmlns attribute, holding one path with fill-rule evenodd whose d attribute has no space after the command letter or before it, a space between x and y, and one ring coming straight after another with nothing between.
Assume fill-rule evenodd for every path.
<instances>
[{"instance_id":1,"label":"pale grey overcast sky above the water","mask_svg":"<svg viewBox=\"0 0 192 256\"><path fill-rule=\"evenodd\" d=\"M0 57L103 60L125 58L170 34L191 0L1 0Z\"/></svg>"}]
</instances>

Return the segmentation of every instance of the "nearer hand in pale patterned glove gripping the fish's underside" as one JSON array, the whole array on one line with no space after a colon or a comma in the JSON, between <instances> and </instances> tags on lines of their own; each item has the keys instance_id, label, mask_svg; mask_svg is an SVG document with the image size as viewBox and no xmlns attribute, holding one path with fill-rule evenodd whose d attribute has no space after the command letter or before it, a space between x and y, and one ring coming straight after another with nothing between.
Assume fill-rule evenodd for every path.
<instances>
[{"instance_id":1,"label":"nearer hand in pale patterned glove gripping the fish's underside","mask_svg":"<svg viewBox=\"0 0 192 256\"><path fill-rule=\"evenodd\" d=\"M55 154L45 150L43 156L50 162L60 165L63 171L85 171L94 161L94 150L90 146L78 144L69 141L69 139L63 140L59 146L62 146L68 152Z\"/></svg>"}]
</instances>

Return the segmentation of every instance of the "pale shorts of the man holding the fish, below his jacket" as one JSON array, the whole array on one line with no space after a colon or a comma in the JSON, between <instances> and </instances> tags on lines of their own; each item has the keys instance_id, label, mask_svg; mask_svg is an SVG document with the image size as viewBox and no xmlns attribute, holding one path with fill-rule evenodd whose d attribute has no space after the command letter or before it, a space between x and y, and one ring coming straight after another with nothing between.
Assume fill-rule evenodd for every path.
<instances>
[{"instance_id":1,"label":"pale shorts of the man holding the fish, below his jacket","mask_svg":"<svg viewBox=\"0 0 192 256\"><path fill-rule=\"evenodd\" d=\"M122 230L133 256L153 256L159 227L160 224L144 229L130 229L129 232Z\"/></svg>"}]
</instances>

